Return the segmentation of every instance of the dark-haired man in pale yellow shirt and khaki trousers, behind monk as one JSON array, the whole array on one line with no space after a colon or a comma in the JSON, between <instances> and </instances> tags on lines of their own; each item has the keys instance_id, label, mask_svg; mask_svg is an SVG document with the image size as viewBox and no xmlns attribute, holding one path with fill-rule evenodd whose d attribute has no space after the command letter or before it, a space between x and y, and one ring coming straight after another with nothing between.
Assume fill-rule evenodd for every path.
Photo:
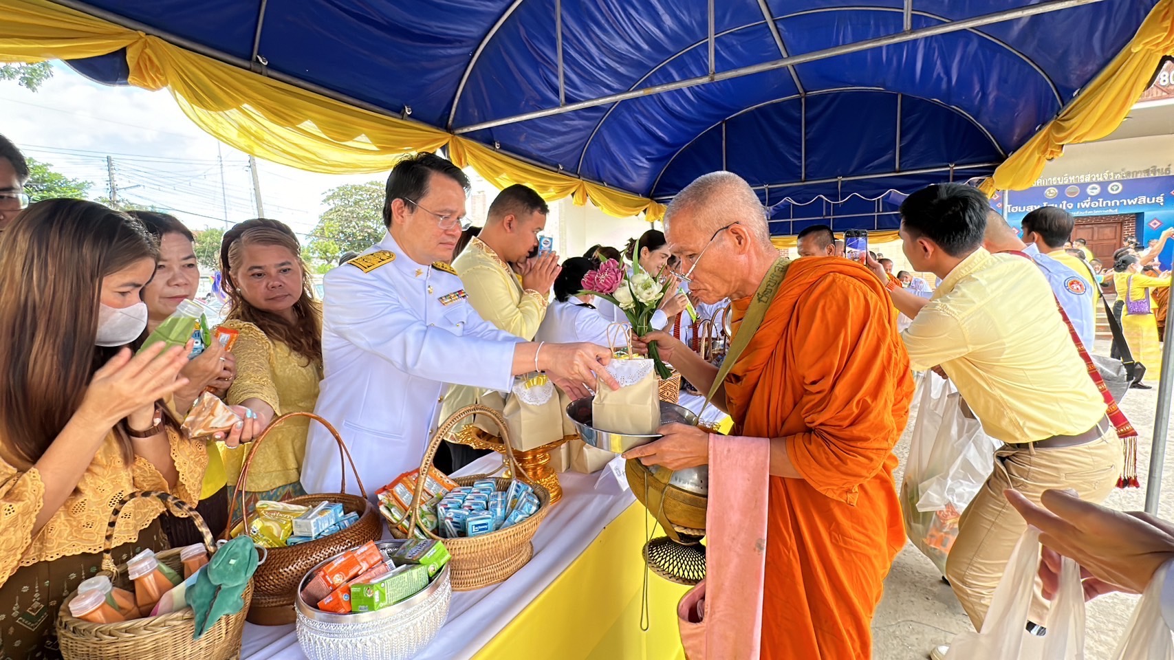
<instances>
[{"instance_id":1,"label":"dark-haired man in pale yellow shirt and khaki trousers, behind monk","mask_svg":"<svg viewBox=\"0 0 1174 660\"><path fill-rule=\"evenodd\" d=\"M1003 449L959 521L946 578L976 629L1026 523L1004 497L1016 489L1039 501L1047 489L1073 489L1101 501L1116 485L1124 454L1106 404L1055 307L1039 268L1018 255L983 249L986 197L943 183L900 207L909 262L942 284L932 299L893 287L893 304L913 319L900 334L915 370L940 365ZM885 282L884 270L871 262ZM936 376L930 376L931 378ZM1037 599L1030 628L1046 622ZM943 658L945 647L931 658Z\"/></svg>"}]
</instances>

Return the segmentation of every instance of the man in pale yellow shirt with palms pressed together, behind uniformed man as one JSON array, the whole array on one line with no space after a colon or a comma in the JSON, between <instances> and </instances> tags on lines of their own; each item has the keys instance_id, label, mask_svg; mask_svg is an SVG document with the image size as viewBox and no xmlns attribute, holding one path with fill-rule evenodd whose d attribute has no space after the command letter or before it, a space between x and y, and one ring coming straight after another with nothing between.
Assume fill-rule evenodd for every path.
<instances>
[{"instance_id":1,"label":"man in pale yellow shirt with palms pressed together, behind uniformed man","mask_svg":"<svg viewBox=\"0 0 1174 660\"><path fill-rule=\"evenodd\" d=\"M520 183L506 188L490 204L485 228L452 262L468 304L481 318L527 342L534 339L546 316L551 287L560 270L559 255L553 251L531 258L538 235L546 228L547 213L546 202L532 188ZM525 274L518 275L511 264L520 264ZM501 410L505 398L502 392L485 388L452 385L440 408L440 419L474 403ZM448 449L453 470L485 453L456 443L450 443Z\"/></svg>"}]
</instances>

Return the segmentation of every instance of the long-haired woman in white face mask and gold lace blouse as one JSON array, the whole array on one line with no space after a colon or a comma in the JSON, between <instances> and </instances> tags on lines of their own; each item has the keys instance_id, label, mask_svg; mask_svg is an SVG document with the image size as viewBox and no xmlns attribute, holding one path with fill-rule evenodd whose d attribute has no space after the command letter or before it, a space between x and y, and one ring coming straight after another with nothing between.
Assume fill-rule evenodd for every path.
<instances>
[{"instance_id":1,"label":"long-haired woman in white face mask and gold lace blouse","mask_svg":"<svg viewBox=\"0 0 1174 660\"><path fill-rule=\"evenodd\" d=\"M187 383L185 349L126 348L147 322L140 291L157 256L137 220L39 202L0 254L0 656L56 658L58 610L97 571L114 505L140 490L195 501L208 456L163 412ZM167 548L161 511L123 510L115 561Z\"/></svg>"}]
</instances>

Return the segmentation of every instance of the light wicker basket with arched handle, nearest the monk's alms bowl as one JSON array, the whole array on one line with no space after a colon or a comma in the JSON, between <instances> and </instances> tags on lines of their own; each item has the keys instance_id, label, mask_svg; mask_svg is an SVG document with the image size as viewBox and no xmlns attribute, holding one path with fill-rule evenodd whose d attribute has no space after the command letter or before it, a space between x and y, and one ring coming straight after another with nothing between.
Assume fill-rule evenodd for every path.
<instances>
[{"instance_id":1,"label":"light wicker basket with arched handle, nearest the monk's alms bowl","mask_svg":"<svg viewBox=\"0 0 1174 660\"><path fill-rule=\"evenodd\" d=\"M497 423L498 429L501 431L501 443L505 445L510 469L517 478L524 479L526 473L522 472L518 465L518 459L514 458L513 443L510 442L510 430L505 418L501 417L500 412L484 405L465 406L454 412L452 417L440 425L436 436L432 437L432 442L429 443L427 451L424 452L424 459L420 462L420 472L423 473L432 465L432 458L436 456L437 447L440 446L441 440L452 432L461 419L472 415L485 415ZM488 478L488 476L474 474L472 477L457 477L453 480L461 486L471 486L478 479L485 478ZM499 491L504 491L510 486L510 479L498 477L494 480ZM551 493L541 484L531 484L531 486L534 489L534 494L538 496L538 511L517 525L473 538L446 539L432 532L425 532L430 538L444 543L444 546L448 548L448 553L452 555L448 565L452 567L453 591L472 591L504 581L510 575L517 573L534 555L534 546L529 541L534 538L538 525L542 521L542 518L546 518L547 511L551 510ZM409 530L417 528L417 517L419 516L423 499L424 479L417 479L416 493L412 497L412 518L411 524L407 526Z\"/></svg>"}]
</instances>

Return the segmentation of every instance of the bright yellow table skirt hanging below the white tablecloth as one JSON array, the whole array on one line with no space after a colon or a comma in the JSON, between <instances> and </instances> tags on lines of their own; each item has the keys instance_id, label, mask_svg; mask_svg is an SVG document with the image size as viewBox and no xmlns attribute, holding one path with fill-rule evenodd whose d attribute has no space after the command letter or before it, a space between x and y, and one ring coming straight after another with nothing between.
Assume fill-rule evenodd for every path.
<instances>
[{"instance_id":1,"label":"bright yellow table skirt hanging below the white tablecloth","mask_svg":"<svg viewBox=\"0 0 1174 660\"><path fill-rule=\"evenodd\" d=\"M603 527L474 658L683 660L676 604L688 587L649 572L648 632L641 631L646 513L635 503ZM647 528L654 524L649 517Z\"/></svg>"}]
</instances>

